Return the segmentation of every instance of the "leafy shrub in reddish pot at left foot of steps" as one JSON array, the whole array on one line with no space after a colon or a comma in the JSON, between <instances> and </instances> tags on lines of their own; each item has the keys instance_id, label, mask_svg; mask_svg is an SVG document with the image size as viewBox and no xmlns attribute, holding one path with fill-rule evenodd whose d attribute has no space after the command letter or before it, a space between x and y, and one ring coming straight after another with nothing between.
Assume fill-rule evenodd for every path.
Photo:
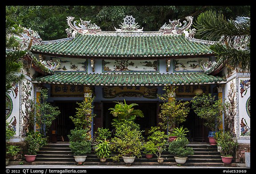
<instances>
[{"instance_id":1,"label":"leafy shrub in reddish pot at left foot of steps","mask_svg":"<svg viewBox=\"0 0 256 174\"><path fill-rule=\"evenodd\" d=\"M46 139L38 131L28 131L25 138L28 146L28 153L25 156L27 162L33 162L36 159L36 154L46 144Z\"/></svg>"}]
</instances>

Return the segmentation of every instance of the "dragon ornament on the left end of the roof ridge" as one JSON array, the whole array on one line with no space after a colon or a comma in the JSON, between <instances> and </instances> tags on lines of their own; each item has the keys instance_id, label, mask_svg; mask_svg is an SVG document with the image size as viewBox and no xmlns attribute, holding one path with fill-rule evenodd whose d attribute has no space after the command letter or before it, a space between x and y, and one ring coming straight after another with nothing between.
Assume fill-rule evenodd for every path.
<instances>
[{"instance_id":1,"label":"dragon ornament on the left end of the roof ridge","mask_svg":"<svg viewBox=\"0 0 256 174\"><path fill-rule=\"evenodd\" d=\"M67 17L67 23L68 26L74 30L77 31L80 34L96 34L96 32L101 31L100 27L98 27L95 23L91 23L91 20L85 21L80 18L80 23L78 23L78 26L76 25L76 21L71 23L75 17L68 16ZM66 30L68 33L68 37L70 37L70 31Z\"/></svg>"}]
</instances>

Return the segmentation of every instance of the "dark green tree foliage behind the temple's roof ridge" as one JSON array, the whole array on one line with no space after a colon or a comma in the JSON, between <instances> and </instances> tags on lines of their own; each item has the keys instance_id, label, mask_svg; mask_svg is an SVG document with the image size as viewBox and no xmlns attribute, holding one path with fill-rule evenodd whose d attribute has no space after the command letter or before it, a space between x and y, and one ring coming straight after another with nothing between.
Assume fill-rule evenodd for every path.
<instances>
[{"instance_id":1,"label":"dark green tree foliage behind the temple's roof ridge","mask_svg":"<svg viewBox=\"0 0 256 174\"><path fill-rule=\"evenodd\" d=\"M226 19L248 16L250 6L12 6L15 9L16 24L31 28L43 40L66 38L67 16L75 20L91 20L102 31L115 31L124 22L126 15L132 15L144 31L158 31L164 23L192 15L194 20L207 10L222 12ZM10 6L6 6L10 8Z\"/></svg>"}]
</instances>

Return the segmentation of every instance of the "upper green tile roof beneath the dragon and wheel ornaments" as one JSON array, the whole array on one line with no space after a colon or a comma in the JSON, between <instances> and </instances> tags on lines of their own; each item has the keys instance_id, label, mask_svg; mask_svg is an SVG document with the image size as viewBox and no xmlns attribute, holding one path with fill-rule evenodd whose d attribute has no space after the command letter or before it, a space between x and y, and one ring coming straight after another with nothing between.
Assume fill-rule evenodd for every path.
<instances>
[{"instance_id":1,"label":"upper green tile roof beneath the dragon and wheel ornaments","mask_svg":"<svg viewBox=\"0 0 256 174\"><path fill-rule=\"evenodd\" d=\"M60 41L61 40L61 41ZM208 45L184 35L80 35L31 47L37 54L72 56L149 57L213 54Z\"/></svg>"}]
</instances>

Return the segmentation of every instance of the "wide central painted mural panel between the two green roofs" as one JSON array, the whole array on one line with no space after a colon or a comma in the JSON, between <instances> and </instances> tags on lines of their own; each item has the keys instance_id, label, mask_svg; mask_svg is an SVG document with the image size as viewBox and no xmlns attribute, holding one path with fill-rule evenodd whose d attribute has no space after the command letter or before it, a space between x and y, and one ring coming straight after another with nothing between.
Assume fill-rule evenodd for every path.
<instances>
[{"instance_id":1,"label":"wide central painted mural panel between the two green roofs","mask_svg":"<svg viewBox=\"0 0 256 174\"><path fill-rule=\"evenodd\" d=\"M159 72L159 60L102 60L102 72Z\"/></svg>"}]
</instances>

